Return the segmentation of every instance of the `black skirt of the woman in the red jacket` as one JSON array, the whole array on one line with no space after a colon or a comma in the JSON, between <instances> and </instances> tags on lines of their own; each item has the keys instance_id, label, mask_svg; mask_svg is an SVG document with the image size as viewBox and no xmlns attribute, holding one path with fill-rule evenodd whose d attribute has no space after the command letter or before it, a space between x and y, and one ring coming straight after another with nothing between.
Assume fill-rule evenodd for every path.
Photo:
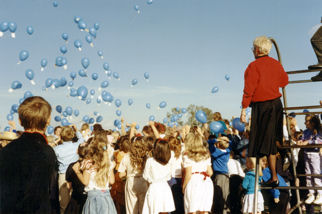
<instances>
[{"instance_id":1,"label":"black skirt of the woman in the red jacket","mask_svg":"<svg viewBox=\"0 0 322 214\"><path fill-rule=\"evenodd\" d=\"M283 140L283 106L280 98L251 104L252 118L248 156L277 153L276 141Z\"/></svg>"}]
</instances>

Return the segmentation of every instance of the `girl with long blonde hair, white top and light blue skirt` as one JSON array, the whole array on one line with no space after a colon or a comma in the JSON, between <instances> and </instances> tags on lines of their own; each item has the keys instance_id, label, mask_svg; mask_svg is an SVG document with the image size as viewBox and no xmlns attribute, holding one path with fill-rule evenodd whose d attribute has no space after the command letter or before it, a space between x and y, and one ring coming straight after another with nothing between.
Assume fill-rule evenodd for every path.
<instances>
[{"instance_id":1,"label":"girl with long blonde hair, white top and light blue skirt","mask_svg":"<svg viewBox=\"0 0 322 214\"><path fill-rule=\"evenodd\" d=\"M90 140L88 145L90 145L89 160L91 164L80 165L76 163L73 166L87 192L83 214L116 214L109 190L109 185L114 183L113 168L115 163L110 162L106 148L107 142L98 141L98 138Z\"/></svg>"}]
</instances>

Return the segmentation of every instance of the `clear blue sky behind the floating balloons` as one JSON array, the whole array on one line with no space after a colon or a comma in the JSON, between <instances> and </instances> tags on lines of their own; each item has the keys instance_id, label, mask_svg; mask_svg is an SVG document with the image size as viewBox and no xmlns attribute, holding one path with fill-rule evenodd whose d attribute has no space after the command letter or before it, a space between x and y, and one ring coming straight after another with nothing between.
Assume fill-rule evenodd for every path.
<instances>
[{"instance_id":1,"label":"clear blue sky behind the floating balloons","mask_svg":"<svg viewBox=\"0 0 322 214\"><path fill-rule=\"evenodd\" d=\"M45 97L53 107L71 106L80 110L78 118L71 122L81 124L84 115L99 112L103 126L112 128L116 107L113 104L97 105L99 83L108 80L102 64L108 62L121 80L109 80L107 88L115 98L122 101L120 110L127 122L146 124L150 115L162 121L172 107L187 107L189 104L203 105L220 111L224 118L239 116L243 89L243 74L253 61L252 41L256 36L273 37L282 54L285 70L305 69L317 62L310 37L320 24L322 1L320 0L58 0L53 7L51 0L0 0L0 22L14 21L18 29L16 39L9 33L0 38L0 129L6 126L6 115L12 104L18 103L25 91ZM134 10L139 5L140 14ZM74 23L80 16L88 25L100 24L94 48L85 42L86 32L81 32ZM26 33L33 26L34 34ZM61 39L68 33L68 44ZM74 40L83 42L79 52ZM68 70L54 66L55 58L61 56L59 47L66 45ZM28 50L30 57L17 65L18 54ZM97 56L104 52L104 59ZM271 56L275 57L274 50ZM74 87L85 85L95 89L91 104L68 97L67 87L42 91L45 79L65 77L82 68L81 59L90 59L88 74L99 74L99 79L77 76ZM40 60L48 59L45 71L40 72ZM25 77L26 69L35 72L36 85ZM143 74L150 74L146 82ZM224 76L230 75L226 81ZM313 74L292 75L290 79L305 79ZM139 83L133 88L133 78ZM11 82L19 80L23 87L8 92ZM219 92L210 93L218 86ZM290 85L287 87L290 106L317 105L322 99L322 83ZM128 98L134 100L127 105ZM158 110L161 101L167 107ZM145 104L151 103L151 109ZM53 117L56 116L53 111ZM303 119L299 117L300 127ZM17 115L15 115L17 121ZM52 125L56 125L53 121Z\"/></svg>"}]
</instances>

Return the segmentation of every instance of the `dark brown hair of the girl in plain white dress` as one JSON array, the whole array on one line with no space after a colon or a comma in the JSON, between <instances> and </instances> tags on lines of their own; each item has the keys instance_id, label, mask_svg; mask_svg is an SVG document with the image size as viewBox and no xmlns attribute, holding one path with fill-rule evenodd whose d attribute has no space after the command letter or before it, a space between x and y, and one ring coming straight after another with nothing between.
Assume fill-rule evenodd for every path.
<instances>
[{"instance_id":1,"label":"dark brown hair of the girl in plain white dress","mask_svg":"<svg viewBox=\"0 0 322 214\"><path fill-rule=\"evenodd\" d=\"M162 165L166 165L171 157L170 146L168 141L158 139L154 143L153 158Z\"/></svg>"}]
</instances>

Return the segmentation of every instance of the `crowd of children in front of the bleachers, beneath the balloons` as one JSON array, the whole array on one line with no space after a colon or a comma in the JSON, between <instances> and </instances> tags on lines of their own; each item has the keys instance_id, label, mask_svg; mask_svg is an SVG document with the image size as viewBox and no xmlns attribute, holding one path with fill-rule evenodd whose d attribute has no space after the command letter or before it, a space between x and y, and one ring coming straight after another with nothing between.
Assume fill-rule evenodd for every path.
<instances>
[{"instance_id":1,"label":"crowd of children in front of the bleachers, beneath the balloons","mask_svg":"<svg viewBox=\"0 0 322 214\"><path fill-rule=\"evenodd\" d=\"M218 112L215 119L224 121ZM294 119L292 123L297 126ZM303 132L291 130L291 141L322 144L319 117L308 115L305 124ZM253 213L256 160L247 157L249 127L238 132L226 121L225 131L213 134L207 124L171 128L150 121L142 132L135 126L124 120L120 131L105 130L100 124L92 131L88 124L79 130L71 125L56 127L54 136L47 137L58 161L60 213ZM0 161L8 142L17 138L4 136ZM302 150L298 153L304 154L305 173L320 174L321 150ZM278 186L283 187L292 184L285 176L291 167L287 152L281 150L279 157ZM258 182L265 185L271 172L267 159L260 163ZM307 177L304 183L322 186L319 177ZM290 197L295 194L290 196L288 190L261 190L257 211L286 213ZM322 205L322 192L310 190L304 199Z\"/></svg>"}]
</instances>

